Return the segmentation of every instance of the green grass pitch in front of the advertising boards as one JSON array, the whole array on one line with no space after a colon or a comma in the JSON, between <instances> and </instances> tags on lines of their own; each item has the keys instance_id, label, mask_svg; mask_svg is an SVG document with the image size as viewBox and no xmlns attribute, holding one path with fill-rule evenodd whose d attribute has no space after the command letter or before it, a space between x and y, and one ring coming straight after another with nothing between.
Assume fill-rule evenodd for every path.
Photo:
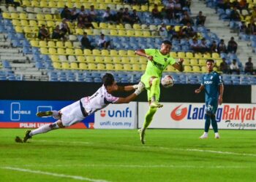
<instances>
[{"instance_id":1,"label":"green grass pitch in front of the advertising boards","mask_svg":"<svg viewBox=\"0 0 256 182\"><path fill-rule=\"evenodd\" d=\"M15 143L0 130L0 181L256 181L256 133L220 130L54 130Z\"/></svg>"}]
</instances>

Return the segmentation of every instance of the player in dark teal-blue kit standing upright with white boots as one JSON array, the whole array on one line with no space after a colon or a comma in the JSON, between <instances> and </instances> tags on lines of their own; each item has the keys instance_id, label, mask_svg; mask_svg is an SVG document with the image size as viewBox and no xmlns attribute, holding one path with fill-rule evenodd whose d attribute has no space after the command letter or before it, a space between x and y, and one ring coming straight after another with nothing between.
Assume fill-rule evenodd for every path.
<instances>
[{"instance_id":1,"label":"player in dark teal-blue kit standing upright with white boots","mask_svg":"<svg viewBox=\"0 0 256 182\"><path fill-rule=\"evenodd\" d=\"M222 76L220 76L216 71L214 71L214 60L207 60L206 66L208 73L203 75L201 86L195 90L195 93L200 93L202 90L206 92L206 124L205 132L201 139L208 138L208 130L210 124L215 132L215 138L219 138L218 125L215 118L215 114L218 108L218 104L222 104L223 95L223 82Z\"/></svg>"}]
</instances>

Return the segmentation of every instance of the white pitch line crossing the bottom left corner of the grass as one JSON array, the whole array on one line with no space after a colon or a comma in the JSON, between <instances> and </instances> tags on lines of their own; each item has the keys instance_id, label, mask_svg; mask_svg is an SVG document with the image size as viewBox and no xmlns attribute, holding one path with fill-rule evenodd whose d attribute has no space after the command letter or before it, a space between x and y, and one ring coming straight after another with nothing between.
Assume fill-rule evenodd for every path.
<instances>
[{"instance_id":1,"label":"white pitch line crossing the bottom left corner of the grass","mask_svg":"<svg viewBox=\"0 0 256 182\"><path fill-rule=\"evenodd\" d=\"M81 181L109 182L109 181L105 181L105 180L95 180L95 179L91 179L91 178L85 178L83 176L78 176L78 175L64 175L64 174L58 174L58 173L48 173L48 172L44 172L44 171L40 171L40 170L29 170L29 169L22 169L22 168L18 168L18 167L1 167L1 168L5 169L5 170L18 170L18 171L22 171L22 172L26 172L26 173L52 175L52 176L61 177L61 178L72 178L72 179L81 180Z\"/></svg>"}]
</instances>

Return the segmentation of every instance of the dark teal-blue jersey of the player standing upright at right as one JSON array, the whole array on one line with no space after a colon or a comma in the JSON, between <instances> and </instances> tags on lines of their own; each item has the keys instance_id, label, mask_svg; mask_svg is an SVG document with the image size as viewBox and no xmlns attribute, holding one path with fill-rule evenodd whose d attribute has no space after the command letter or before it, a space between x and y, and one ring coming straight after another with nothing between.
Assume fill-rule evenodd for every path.
<instances>
[{"instance_id":1,"label":"dark teal-blue jersey of the player standing upright at right","mask_svg":"<svg viewBox=\"0 0 256 182\"><path fill-rule=\"evenodd\" d=\"M216 71L211 71L203 75L201 84L205 87L206 102L209 100L218 100L219 98L219 85L223 84L222 76Z\"/></svg>"}]
</instances>

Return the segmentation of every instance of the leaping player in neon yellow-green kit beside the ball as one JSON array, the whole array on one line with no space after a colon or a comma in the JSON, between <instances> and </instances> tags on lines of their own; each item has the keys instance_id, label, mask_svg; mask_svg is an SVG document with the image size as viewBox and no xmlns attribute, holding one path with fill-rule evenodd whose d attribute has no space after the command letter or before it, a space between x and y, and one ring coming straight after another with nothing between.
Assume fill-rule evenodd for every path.
<instances>
[{"instance_id":1,"label":"leaping player in neon yellow-green kit beside the ball","mask_svg":"<svg viewBox=\"0 0 256 182\"><path fill-rule=\"evenodd\" d=\"M139 130L140 132L140 141L145 143L144 136L146 128L151 123L154 114L157 111L157 108L161 108L162 104L158 103L160 95L160 80L162 78L162 71L168 65L172 65L178 71L183 71L182 63L183 59L179 59L178 63L176 60L170 57L170 49L172 43L170 41L162 41L161 49L146 49L146 50L136 50L135 54L144 56L148 58L148 64L146 66L146 71L143 76L141 76L140 84L144 84L148 92L148 102L149 110L146 114L143 127Z\"/></svg>"}]
</instances>

